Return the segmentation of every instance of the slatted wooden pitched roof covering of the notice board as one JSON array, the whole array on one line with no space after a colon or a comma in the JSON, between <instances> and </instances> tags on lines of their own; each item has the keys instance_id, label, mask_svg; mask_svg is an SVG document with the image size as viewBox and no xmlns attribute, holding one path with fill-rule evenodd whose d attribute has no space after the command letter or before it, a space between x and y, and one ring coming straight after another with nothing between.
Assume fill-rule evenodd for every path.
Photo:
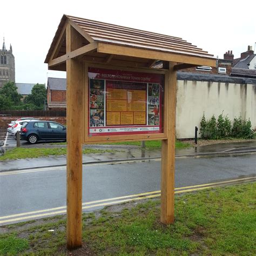
<instances>
[{"instance_id":1,"label":"slatted wooden pitched roof covering of the notice board","mask_svg":"<svg viewBox=\"0 0 256 256\"><path fill-rule=\"evenodd\" d=\"M60 21L56 35L53 38L45 63L49 63L52 52L66 22L69 22L74 28L76 28L76 30L86 38L88 43L98 42L215 59L213 55L209 54L207 51L198 48L196 45L188 43L180 37L167 36L160 33L126 28L125 26L64 15Z\"/></svg>"}]
</instances>

